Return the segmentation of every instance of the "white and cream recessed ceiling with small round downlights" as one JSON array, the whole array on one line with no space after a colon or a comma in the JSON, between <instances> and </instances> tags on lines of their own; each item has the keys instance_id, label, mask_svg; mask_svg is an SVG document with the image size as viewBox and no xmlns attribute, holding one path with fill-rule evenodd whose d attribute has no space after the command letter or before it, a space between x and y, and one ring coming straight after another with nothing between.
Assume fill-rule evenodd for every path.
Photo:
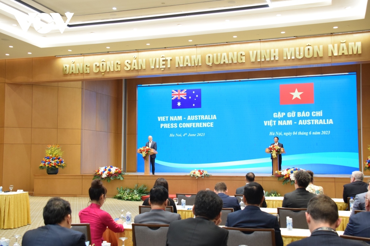
<instances>
[{"instance_id":1,"label":"white and cream recessed ceiling with small round downlights","mask_svg":"<svg viewBox=\"0 0 370 246\"><path fill-rule=\"evenodd\" d=\"M117 20L183 13L184 11L201 11L206 8L219 9L266 4L265 0L138 0L136 2L108 1L109 4L107 1L97 0L38 0L37 3L34 0L24 1L46 13L67 11L74 13L70 21L71 26L86 21ZM32 11L13 0L0 0L0 59L126 51L370 30L369 15L366 15L369 13L367 0L272 0L271 2L268 8L263 9L114 25L71 27L67 28L63 34L59 30L40 34L32 26L27 32L21 30L14 15L5 11L5 8L1 8L1 3L17 7L26 13ZM112 7L117 10L112 10ZM116 16L112 17L109 14L116 14ZM334 26L338 28L333 29ZM233 38L233 36L237 37ZM106 48L108 46L110 48ZM27 54L27 52L32 54ZM9 56L6 56L6 53Z\"/></svg>"}]
</instances>

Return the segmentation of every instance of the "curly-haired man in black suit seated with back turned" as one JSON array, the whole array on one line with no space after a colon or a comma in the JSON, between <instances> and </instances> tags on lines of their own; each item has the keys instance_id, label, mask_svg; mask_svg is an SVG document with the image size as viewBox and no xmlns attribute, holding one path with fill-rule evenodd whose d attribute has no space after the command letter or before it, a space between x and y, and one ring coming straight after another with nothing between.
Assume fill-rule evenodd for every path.
<instances>
[{"instance_id":1,"label":"curly-haired man in black suit seated with back turned","mask_svg":"<svg viewBox=\"0 0 370 246\"><path fill-rule=\"evenodd\" d=\"M311 176L304 170L299 170L294 173L296 187L295 191L286 193L283 200L283 208L307 208L307 204L316 194L306 190L309 185Z\"/></svg>"}]
</instances>

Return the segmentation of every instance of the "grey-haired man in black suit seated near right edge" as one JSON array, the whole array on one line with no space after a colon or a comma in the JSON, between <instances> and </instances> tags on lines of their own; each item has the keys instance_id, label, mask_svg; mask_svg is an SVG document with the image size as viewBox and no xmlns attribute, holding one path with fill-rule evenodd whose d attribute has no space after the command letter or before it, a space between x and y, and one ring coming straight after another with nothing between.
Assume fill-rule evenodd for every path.
<instances>
[{"instance_id":1,"label":"grey-haired man in black suit seated near right edge","mask_svg":"<svg viewBox=\"0 0 370 246\"><path fill-rule=\"evenodd\" d=\"M343 186L343 201L347 203L347 197L355 198L357 194L367 192L367 183L364 180L364 174L360 171L353 171L351 182Z\"/></svg>"}]
</instances>

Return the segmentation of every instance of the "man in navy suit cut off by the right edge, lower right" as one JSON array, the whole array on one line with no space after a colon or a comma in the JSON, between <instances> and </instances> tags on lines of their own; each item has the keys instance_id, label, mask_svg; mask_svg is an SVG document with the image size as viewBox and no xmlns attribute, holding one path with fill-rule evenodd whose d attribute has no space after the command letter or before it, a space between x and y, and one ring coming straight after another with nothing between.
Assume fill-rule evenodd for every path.
<instances>
[{"instance_id":1,"label":"man in navy suit cut off by the right edge, lower right","mask_svg":"<svg viewBox=\"0 0 370 246\"><path fill-rule=\"evenodd\" d=\"M360 212L349 218L344 235L370 238L370 191L365 195L366 212Z\"/></svg>"}]
</instances>

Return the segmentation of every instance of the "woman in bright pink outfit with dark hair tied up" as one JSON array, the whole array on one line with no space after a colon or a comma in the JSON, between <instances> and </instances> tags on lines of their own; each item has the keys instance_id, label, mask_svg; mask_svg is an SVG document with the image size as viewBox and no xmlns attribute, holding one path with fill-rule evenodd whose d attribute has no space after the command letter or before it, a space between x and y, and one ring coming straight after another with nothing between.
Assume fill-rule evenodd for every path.
<instances>
[{"instance_id":1,"label":"woman in bright pink outfit with dark hair tied up","mask_svg":"<svg viewBox=\"0 0 370 246\"><path fill-rule=\"evenodd\" d=\"M91 204L78 213L81 223L90 224L90 244L95 243L95 246L101 246L103 242L102 236L107 226L113 232L123 232L124 230L123 221L119 220L115 222L110 214L100 209L105 202L105 194L107 194L107 189L103 186L101 180L92 180L91 187L89 188Z\"/></svg>"}]
</instances>

